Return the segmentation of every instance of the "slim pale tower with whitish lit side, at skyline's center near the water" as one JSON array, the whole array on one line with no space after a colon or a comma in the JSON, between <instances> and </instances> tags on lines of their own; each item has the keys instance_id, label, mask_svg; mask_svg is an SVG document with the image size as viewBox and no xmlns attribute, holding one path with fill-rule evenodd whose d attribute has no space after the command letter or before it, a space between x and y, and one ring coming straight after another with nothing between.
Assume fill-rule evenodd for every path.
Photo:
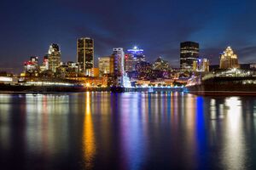
<instances>
[{"instance_id":1,"label":"slim pale tower with whitish lit side, at skyline's center near the water","mask_svg":"<svg viewBox=\"0 0 256 170\"><path fill-rule=\"evenodd\" d=\"M125 72L125 53L123 48L113 48L113 74L121 77Z\"/></svg>"}]
</instances>

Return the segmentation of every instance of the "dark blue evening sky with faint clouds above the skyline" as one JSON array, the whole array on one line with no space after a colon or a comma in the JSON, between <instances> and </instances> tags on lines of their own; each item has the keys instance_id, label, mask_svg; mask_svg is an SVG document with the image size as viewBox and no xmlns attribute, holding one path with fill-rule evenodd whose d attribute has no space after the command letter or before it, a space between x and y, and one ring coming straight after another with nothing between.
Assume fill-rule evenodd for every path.
<instances>
[{"instance_id":1,"label":"dark blue evening sky with faint clouds above the skyline","mask_svg":"<svg viewBox=\"0 0 256 170\"><path fill-rule=\"evenodd\" d=\"M138 45L149 61L177 66L179 43L195 41L212 64L226 46L241 63L256 62L255 0L3 0L0 11L2 69L22 68L52 42L75 61L78 37L95 39L96 58Z\"/></svg>"}]
</instances>

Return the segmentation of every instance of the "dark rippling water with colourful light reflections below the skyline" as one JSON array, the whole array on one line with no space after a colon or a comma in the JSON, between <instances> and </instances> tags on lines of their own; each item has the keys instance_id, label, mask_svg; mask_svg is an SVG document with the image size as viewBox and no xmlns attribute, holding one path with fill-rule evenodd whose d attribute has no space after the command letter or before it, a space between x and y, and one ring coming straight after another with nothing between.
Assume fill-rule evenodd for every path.
<instances>
[{"instance_id":1,"label":"dark rippling water with colourful light reflections below the skyline","mask_svg":"<svg viewBox=\"0 0 256 170\"><path fill-rule=\"evenodd\" d=\"M0 94L0 169L256 169L256 97Z\"/></svg>"}]
</instances>

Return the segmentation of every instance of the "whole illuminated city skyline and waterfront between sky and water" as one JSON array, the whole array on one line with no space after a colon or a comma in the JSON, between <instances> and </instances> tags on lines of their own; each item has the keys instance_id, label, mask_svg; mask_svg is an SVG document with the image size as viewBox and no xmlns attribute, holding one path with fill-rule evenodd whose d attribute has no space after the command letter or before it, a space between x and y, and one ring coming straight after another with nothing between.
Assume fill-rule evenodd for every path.
<instances>
[{"instance_id":1,"label":"whole illuminated city skyline and waterfront between sky and water","mask_svg":"<svg viewBox=\"0 0 256 170\"><path fill-rule=\"evenodd\" d=\"M237 55L227 47L219 59L219 69L210 71L210 60L199 57L199 43L181 42L180 68L158 57L148 62L144 50L134 46L127 49L113 48L113 53L98 57L94 67L94 40L82 37L77 40L77 62L61 61L60 46L52 43L40 65L38 56L24 64L20 76L3 76L3 90L38 91L176 91L191 94L248 94L256 92L256 73L239 69ZM255 87L254 87L255 86ZM38 87L38 88L32 88ZM66 88L61 88L66 87ZM214 94L214 93L213 93Z\"/></svg>"}]
</instances>

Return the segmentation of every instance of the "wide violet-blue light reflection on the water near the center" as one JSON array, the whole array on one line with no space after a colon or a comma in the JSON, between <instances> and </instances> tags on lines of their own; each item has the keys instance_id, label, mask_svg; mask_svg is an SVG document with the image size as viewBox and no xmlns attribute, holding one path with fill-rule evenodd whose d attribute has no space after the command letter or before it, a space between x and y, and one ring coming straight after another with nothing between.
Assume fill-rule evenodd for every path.
<instances>
[{"instance_id":1,"label":"wide violet-blue light reflection on the water near the center","mask_svg":"<svg viewBox=\"0 0 256 170\"><path fill-rule=\"evenodd\" d=\"M147 135L143 115L145 107L142 94L125 94L120 100L124 105L120 113L120 141L124 154L122 169L138 169L146 159Z\"/></svg>"}]
</instances>

